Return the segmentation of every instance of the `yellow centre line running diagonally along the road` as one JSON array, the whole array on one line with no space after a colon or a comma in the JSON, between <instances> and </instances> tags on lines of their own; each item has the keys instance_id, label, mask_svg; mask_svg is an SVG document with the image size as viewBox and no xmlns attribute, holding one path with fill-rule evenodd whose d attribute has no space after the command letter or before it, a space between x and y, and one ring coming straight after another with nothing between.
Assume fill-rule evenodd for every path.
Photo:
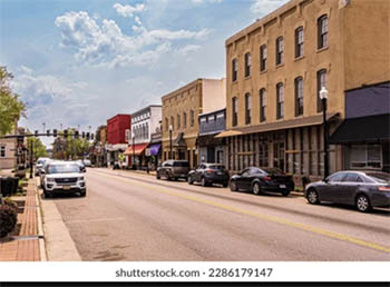
<instances>
[{"instance_id":1,"label":"yellow centre line running diagonally along the road","mask_svg":"<svg viewBox=\"0 0 390 287\"><path fill-rule=\"evenodd\" d=\"M224 209L224 210L228 210L228 211L233 211L233 212L241 214L241 215L247 215L247 216L256 217L256 218L260 218L260 219L263 219L263 220L266 220L266 221L271 221L271 222L276 222L276 224L284 225L284 226L294 227L294 228L298 228L298 229L301 229L301 230L311 231L311 232L314 232L314 234L318 234L318 235L323 235L325 237L330 237L330 238L333 238L333 239L348 241L348 243L351 243L351 244L354 244L354 245L359 245L359 246L363 246L363 247L368 247L368 248L371 248L371 249L374 249L374 250L384 251L387 254L390 254L390 247L386 247L386 246L382 246L382 245L379 245L379 244L374 244L374 243L370 243L370 241L367 241L367 240L362 240L362 239L359 239L359 238L355 238L355 237L352 237L352 236L349 236L349 235L343 235L343 234L339 234L339 232L334 232L334 231L330 231L330 230L312 227L312 226L309 226L309 225L294 222L294 221L291 221L291 220L287 220L287 219L283 219L283 218L280 218L280 217L275 217L275 216L267 216L267 215L263 215L263 214L260 214L260 212L245 210L245 209L242 209L242 208L238 208L238 207L234 207L234 206L227 206L227 205L220 204L220 202L216 202L216 201L212 201L212 200L208 200L208 199L203 199L203 198L198 198L198 197L194 197L194 196L188 196L188 195L182 195L182 194L173 192L173 191L168 190L166 187L158 187L157 188L157 187L155 187L153 185L150 186L150 185L147 185L147 184L144 184L144 182L139 182L139 181L130 179L130 178L123 177L123 176L108 175L108 174L105 174L105 172L99 172L99 174L103 174L103 175L105 175L107 177L119 178L119 179L123 179L125 181L133 181L133 185L138 185L140 187L145 187L145 188L155 190L155 191L160 192L160 194L175 196L175 197L178 197L178 198L183 198L183 199L187 199L187 200L191 200L191 201L204 204L204 205L207 205L207 206L217 207L217 208L221 208L221 209ZM177 187L173 187L173 188L177 188Z\"/></svg>"}]
</instances>

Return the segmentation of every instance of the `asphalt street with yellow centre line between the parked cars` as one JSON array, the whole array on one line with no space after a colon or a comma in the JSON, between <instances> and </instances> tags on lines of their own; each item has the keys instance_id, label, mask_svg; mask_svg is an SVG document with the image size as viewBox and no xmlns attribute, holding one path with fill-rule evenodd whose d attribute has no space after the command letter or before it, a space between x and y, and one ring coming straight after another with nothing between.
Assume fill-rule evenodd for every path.
<instances>
[{"instance_id":1,"label":"asphalt street with yellow centre line between the parked cars","mask_svg":"<svg viewBox=\"0 0 390 287\"><path fill-rule=\"evenodd\" d=\"M82 260L390 259L390 214L88 169L87 197L56 197Z\"/></svg>"}]
</instances>

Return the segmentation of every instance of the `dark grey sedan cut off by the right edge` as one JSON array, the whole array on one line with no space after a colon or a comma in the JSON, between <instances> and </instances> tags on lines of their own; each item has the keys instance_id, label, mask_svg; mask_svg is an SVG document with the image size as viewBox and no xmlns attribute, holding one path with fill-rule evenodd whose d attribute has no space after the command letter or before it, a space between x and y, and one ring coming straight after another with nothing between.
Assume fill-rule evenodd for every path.
<instances>
[{"instance_id":1,"label":"dark grey sedan cut off by the right edge","mask_svg":"<svg viewBox=\"0 0 390 287\"><path fill-rule=\"evenodd\" d=\"M372 207L390 207L390 175L380 171L339 171L305 188L309 204L322 201L354 205L368 212Z\"/></svg>"}]
</instances>

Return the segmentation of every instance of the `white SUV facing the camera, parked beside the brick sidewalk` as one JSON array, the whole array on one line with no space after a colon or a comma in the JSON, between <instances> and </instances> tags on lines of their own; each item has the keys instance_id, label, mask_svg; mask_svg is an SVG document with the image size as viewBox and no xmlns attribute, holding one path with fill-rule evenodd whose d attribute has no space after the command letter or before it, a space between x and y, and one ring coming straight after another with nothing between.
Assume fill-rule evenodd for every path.
<instances>
[{"instance_id":1,"label":"white SUV facing the camera, parked beside the brick sidewalk","mask_svg":"<svg viewBox=\"0 0 390 287\"><path fill-rule=\"evenodd\" d=\"M43 195L50 197L53 194L87 195L86 180L80 166L74 161L53 161L46 170L43 179Z\"/></svg>"}]
</instances>

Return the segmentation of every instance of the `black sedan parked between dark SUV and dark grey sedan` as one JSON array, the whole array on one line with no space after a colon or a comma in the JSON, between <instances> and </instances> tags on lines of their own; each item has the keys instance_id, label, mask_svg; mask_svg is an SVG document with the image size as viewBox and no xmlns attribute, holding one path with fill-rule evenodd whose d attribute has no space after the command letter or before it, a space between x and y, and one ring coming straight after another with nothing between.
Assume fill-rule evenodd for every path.
<instances>
[{"instance_id":1,"label":"black sedan parked between dark SUV and dark grey sedan","mask_svg":"<svg viewBox=\"0 0 390 287\"><path fill-rule=\"evenodd\" d=\"M231 178L231 190L252 191L255 195L272 191L290 195L294 190L294 181L277 168L250 167Z\"/></svg>"}]
</instances>

